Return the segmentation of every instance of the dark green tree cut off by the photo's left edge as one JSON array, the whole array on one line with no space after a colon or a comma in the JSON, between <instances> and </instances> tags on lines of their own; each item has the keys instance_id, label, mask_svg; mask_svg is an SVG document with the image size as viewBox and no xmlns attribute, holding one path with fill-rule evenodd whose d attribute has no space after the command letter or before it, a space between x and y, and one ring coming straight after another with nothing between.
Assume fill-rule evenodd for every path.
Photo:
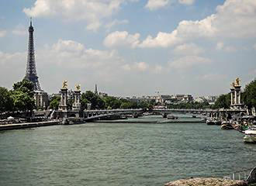
<instances>
[{"instance_id":1,"label":"dark green tree cut off by the photo's left edge","mask_svg":"<svg viewBox=\"0 0 256 186\"><path fill-rule=\"evenodd\" d=\"M11 92L7 88L0 87L0 112L12 111L12 108Z\"/></svg>"}]
</instances>

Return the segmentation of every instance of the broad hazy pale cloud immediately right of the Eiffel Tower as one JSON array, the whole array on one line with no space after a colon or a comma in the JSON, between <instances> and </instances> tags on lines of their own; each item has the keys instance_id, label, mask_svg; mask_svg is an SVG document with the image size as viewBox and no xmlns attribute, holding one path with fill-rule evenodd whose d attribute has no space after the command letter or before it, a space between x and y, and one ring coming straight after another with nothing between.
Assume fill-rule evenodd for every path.
<instances>
[{"instance_id":1,"label":"broad hazy pale cloud immediately right of the Eiffel Tower","mask_svg":"<svg viewBox=\"0 0 256 186\"><path fill-rule=\"evenodd\" d=\"M116 50L86 49L83 44L73 40L58 40L51 47L39 51L38 55L51 63L71 68L98 68L122 62Z\"/></svg>"}]
</instances>

